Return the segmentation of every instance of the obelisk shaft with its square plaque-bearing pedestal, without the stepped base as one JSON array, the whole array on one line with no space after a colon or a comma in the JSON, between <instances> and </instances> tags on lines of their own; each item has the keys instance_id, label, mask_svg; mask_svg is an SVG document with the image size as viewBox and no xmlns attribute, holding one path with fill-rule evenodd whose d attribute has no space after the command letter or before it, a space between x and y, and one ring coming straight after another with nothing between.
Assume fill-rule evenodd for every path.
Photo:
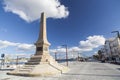
<instances>
[{"instance_id":1,"label":"obelisk shaft with its square plaque-bearing pedestal, without the stepped base","mask_svg":"<svg viewBox=\"0 0 120 80\"><path fill-rule=\"evenodd\" d=\"M46 31L46 16L45 13L41 14L40 21L40 33L36 45L36 54L35 55L44 55L49 53L50 43L47 40L47 31Z\"/></svg>"}]
</instances>

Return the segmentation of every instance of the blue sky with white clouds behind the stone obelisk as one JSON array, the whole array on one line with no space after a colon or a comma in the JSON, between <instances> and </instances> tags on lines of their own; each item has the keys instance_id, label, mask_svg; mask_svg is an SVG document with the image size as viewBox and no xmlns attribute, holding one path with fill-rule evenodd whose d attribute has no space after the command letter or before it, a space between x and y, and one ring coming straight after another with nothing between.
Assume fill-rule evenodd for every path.
<instances>
[{"instance_id":1,"label":"blue sky with white clouds behind the stone obelisk","mask_svg":"<svg viewBox=\"0 0 120 80\"><path fill-rule=\"evenodd\" d=\"M69 51L94 54L120 28L120 0L1 0L0 52L34 54L43 11L51 53L67 44Z\"/></svg>"}]
</instances>

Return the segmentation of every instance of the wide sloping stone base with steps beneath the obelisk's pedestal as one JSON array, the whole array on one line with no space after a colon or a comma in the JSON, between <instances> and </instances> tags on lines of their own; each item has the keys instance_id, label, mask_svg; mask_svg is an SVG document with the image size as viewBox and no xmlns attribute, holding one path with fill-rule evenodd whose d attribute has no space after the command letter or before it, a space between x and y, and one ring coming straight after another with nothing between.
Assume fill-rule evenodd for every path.
<instances>
[{"instance_id":1,"label":"wide sloping stone base with steps beneath the obelisk's pedestal","mask_svg":"<svg viewBox=\"0 0 120 80\"><path fill-rule=\"evenodd\" d=\"M69 68L58 64L51 56L48 61L40 61L40 56L33 56L25 63L23 67L16 68L14 71L8 72L8 75L17 76L51 76L66 73Z\"/></svg>"}]
</instances>

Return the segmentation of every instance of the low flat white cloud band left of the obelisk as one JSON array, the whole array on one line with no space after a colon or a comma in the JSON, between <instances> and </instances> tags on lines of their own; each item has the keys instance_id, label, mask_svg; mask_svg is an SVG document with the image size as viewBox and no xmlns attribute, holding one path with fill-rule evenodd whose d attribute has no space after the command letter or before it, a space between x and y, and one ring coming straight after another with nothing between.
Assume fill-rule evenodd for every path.
<instances>
[{"instance_id":1,"label":"low flat white cloud band left of the obelisk","mask_svg":"<svg viewBox=\"0 0 120 80\"><path fill-rule=\"evenodd\" d=\"M16 47L19 51L32 51L35 50L35 46L32 44L25 44L25 43L15 43L10 41L3 41L0 40L0 48L6 47Z\"/></svg>"}]
</instances>

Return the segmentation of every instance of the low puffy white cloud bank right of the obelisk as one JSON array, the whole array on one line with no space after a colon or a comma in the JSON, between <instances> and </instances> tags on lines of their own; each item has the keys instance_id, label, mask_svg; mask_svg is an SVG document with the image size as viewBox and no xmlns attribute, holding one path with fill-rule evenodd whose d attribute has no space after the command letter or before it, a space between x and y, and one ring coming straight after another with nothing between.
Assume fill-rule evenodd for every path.
<instances>
[{"instance_id":1,"label":"low puffy white cloud bank right of the obelisk","mask_svg":"<svg viewBox=\"0 0 120 80\"><path fill-rule=\"evenodd\" d=\"M87 40L80 41L79 46L68 48L68 52L86 52L104 45L105 38L102 35L93 35L87 37ZM50 52L66 52L66 49L58 46L57 49L51 49Z\"/></svg>"}]
</instances>

